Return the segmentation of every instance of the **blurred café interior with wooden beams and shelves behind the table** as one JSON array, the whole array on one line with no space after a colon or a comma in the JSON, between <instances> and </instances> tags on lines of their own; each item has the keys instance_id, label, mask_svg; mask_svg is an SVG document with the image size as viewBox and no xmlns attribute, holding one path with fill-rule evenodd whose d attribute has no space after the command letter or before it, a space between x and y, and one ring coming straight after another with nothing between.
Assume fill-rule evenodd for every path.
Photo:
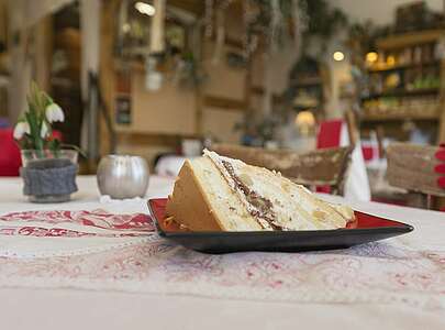
<instances>
[{"instance_id":1,"label":"blurred caf\u00e9 interior with wooden beams and shelves behind the table","mask_svg":"<svg viewBox=\"0 0 445 330\"><path fill-rule=\"evenodd\" d=\"M441 0L0 0L0 130L36 81L80 174L114 153L175 176L214 144L351 145L344 195L420 205L388 180L387 148L445 142L444 79Z\"/></svg>"}]
</instances>

